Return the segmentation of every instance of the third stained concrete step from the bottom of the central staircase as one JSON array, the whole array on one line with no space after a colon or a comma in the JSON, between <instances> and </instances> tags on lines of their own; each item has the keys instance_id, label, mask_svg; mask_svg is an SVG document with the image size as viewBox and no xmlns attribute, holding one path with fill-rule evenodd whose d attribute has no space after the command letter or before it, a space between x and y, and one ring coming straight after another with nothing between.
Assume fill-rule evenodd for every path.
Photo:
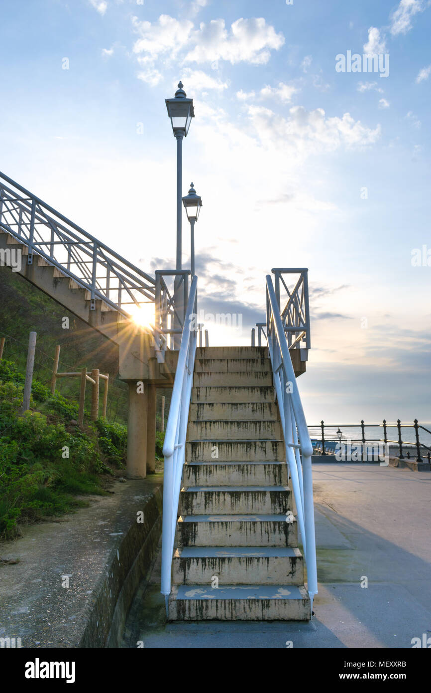
<instances>
[{"instance_id":1,"label":"third stained concrete step from the bottom of the central staircase","mask_svg":"<svg viewBox=\"0 0 431 693\"><path fill-rule=\"evenodd\" d=\"M285 515L184 515L178 547L297 546L297 521Z\"/></svg>"}]
</instances>

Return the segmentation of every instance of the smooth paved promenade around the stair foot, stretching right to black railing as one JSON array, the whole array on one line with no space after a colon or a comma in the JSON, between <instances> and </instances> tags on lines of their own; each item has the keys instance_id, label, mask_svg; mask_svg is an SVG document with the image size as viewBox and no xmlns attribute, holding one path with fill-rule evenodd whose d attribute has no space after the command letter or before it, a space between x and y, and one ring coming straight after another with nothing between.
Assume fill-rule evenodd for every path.
<instances>
[{"instance_id":1,"label":"smooth paved promenade around the stair foot, stretching right to black railing","mask_svg":"<svg viewBox=\"0 0 431 693\"><path fill-rule=\"evenodd\" d=\"M313 621L165 621L160 560L122 647L411 648L431 635L431 473L315 464L319 594ZM367 587L361 587L361 583Z\"/></svg>"}]
</instances>

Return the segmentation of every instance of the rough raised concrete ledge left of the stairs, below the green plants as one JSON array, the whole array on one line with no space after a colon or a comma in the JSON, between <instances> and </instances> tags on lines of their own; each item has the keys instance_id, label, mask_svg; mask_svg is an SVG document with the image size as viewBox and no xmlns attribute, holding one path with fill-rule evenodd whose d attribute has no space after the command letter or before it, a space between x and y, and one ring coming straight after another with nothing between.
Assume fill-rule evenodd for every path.
<instances>
[{"instance_id":1,"label":"rough raised concrete ledge left of the stairs, below the green plants","mask_svg":"<svg viewBox=\"0 0 431 693\"><path fill-rule=\"evenodd\" d=\"M89 507L0 543L2 559L18 561L0 565L0 638L21 638L15 647L23 648L104 647L111 631L118 643L156 552L162 482L162 475L116 482L110 495L86 496Z\"/></svg>"}]
</instances>

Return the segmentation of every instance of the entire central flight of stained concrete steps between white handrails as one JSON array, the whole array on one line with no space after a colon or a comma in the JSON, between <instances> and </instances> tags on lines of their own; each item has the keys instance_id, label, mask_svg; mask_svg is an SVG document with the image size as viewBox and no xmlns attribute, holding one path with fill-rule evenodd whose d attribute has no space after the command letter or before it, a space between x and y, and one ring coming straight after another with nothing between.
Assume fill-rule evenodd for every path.
<instances>
[{"instance_id":1,"label":"entire central flight of stained concrete steps between white handrails","mask_svg":"<svg viewBox=\"0 0 431 693\"><path fill-rule=\"evenodd\" d=\"M268 350L198 349L169 620L309 620Z\"/></svg>"}]
</instances>

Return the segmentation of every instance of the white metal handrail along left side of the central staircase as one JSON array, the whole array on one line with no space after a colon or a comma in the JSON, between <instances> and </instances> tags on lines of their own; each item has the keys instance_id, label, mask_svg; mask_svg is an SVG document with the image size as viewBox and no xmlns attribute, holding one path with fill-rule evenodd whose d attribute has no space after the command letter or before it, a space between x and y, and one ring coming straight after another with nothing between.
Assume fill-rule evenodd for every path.
<instances>
[{"instance_id":1,"label":"white metal handrail along left side of the central staircase","mask_svg":"<svg viewBox=\"0 0 431 693\"><path fill-rule=\"evenodd\" d=\"M198 327L195 320L196 295L197 277L195 276L190 287L190 296L185 313L178 364L176 366L169 416L167 418L165 444L163 446L165 472L163 480L161 593L165 595L166 609L171 593L172 552L174 550L181 477L185 462L185 439L187 436L187 420L192 395L194 359L196 356Z\"/></svg>"}]
</instances>

